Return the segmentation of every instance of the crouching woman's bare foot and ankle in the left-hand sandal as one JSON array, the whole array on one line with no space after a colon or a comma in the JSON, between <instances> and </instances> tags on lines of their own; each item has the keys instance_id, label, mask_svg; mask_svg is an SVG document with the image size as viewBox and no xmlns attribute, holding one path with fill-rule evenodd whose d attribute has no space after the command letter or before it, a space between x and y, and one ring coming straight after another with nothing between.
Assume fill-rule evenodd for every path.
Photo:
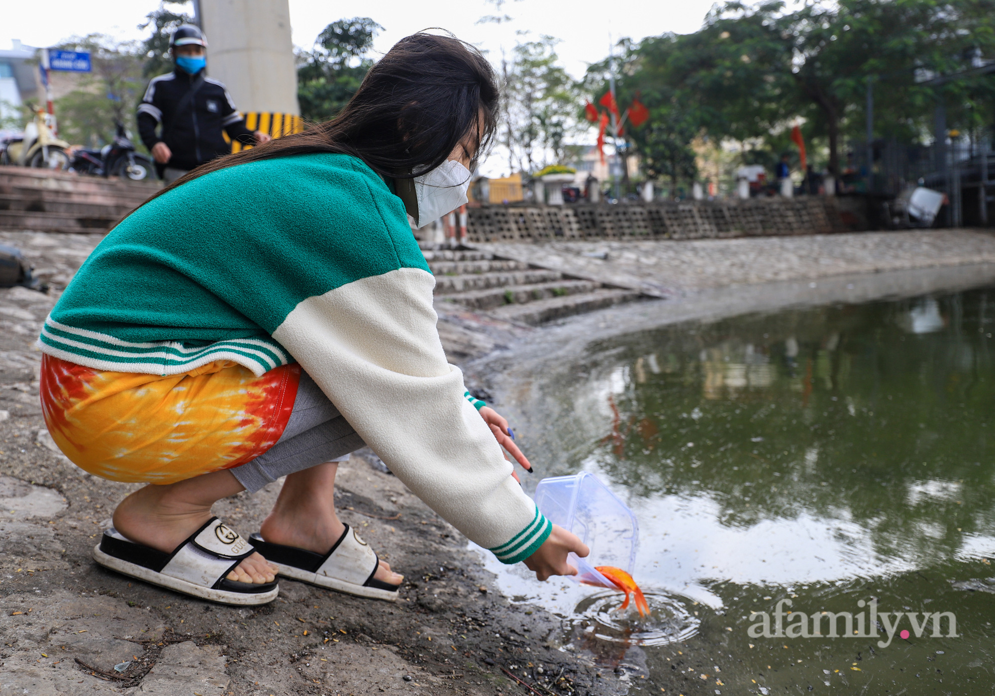
<instances>
[{"instance_id":1,"label":"crouching woman's bare foot and ankle in the left-hand sandal","mask_svg":"<svg viewBox=\"0 0 995 696\"><path fill-rule=\"evenodd\" d=\"M188 481L181 481L164 486L147 485L136 490L114 510L114 528L137 544L172 552L211 519L211 505L215 500L232 494L224 492L228 482L217 474L227 474L235 480L228 471L216 471L190 479L198 481L195 485L184 485ZM214 492L222 492L222 495L210 499ZM276 577L277 569L258 553L244 559L227 576L228 580L257 585L272 583Z\"/></svg>"}]
</instances>

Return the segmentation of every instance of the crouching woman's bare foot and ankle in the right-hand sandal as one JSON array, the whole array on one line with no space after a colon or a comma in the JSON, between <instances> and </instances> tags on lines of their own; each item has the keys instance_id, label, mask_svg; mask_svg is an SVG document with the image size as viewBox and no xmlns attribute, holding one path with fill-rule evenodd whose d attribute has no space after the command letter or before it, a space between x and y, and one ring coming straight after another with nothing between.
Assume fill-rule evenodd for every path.
<instances>
[{"instance_id":1,"label":"crouching woman's bare foot and ankle in the right-hand sandal","mask_svg":"<svg viewBox=\"0 0 995 696\"><path fill-rule=\"evenodd\" d=\"M333 492L337 464L326 462L289 475L277 504L263 522L260 534L273 544L294 546L315 554L326 554L345 531L335 514ZM403 575L380 562L375 580L400 585Z\"/></svg>"}]
</instances>

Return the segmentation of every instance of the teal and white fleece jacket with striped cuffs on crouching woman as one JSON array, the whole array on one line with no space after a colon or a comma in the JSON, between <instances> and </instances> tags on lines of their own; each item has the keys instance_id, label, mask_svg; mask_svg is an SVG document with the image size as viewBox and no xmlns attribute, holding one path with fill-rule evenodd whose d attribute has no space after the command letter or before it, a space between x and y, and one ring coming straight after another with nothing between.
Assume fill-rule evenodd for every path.
<instances>
[{"instance_id":1,"label":"teal and white fleece jacket with striped cuffs on crouching woman","mask_svg":"<svg viewBox=\"0 0 995 696\"><path fill-rule=\"evenodd\" d=\"M434 286L404 204L363 162L265 160L129 215L80 268L39 346L159 375L215 360L262 375L297 360L405 485L516 563L552 525L446 361Z\"/></svg>"}]
</instances>

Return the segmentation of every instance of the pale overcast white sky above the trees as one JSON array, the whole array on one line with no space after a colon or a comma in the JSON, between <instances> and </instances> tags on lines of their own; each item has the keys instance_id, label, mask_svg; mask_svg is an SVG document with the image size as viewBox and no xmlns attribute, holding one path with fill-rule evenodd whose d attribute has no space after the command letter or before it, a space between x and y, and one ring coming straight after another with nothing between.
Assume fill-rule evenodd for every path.
<instances>
[{"instance_id":1,"label":"pale overcast white sky above the trees","mask_svg":"<svg viewBox=\"0 0 995 696\"><path fill-rule=\"evenodd\" d=\"M499 0L498 0L499 1ZM673 0L666 2L612 2L573 0L508 0L498 9L494 0L368 0L339 3L328 0L290 0L294 43L309 48L330 22L343 17L369 16L384 31L375 49L386 52L398 39L429 27L442 27L459 38L480 47L499 63L501 51L510 51L522 32L528 38L549 35L560 40L557 53L562 65L575 77L587 65L608 55L609 37L642 39L665 32L686 34L697 31L713 0ZM28 2L7 2L0 21L0 49L10 49L11 40L29 46L46 47L74 35L108 34L120 41L142 39L147 32L137 25L159 6L158 0L47 0L39 6ZM187 5L187 8L190 8ZM621 7L618 16L608 10ZM188 9L188 11L191 11ZM479 23L485 16L509 16L511 21ZM210 40L210 37L208 37ZM593 139L593 137L592 137ZM482 167L497 174L506 157L497 153L491 166ZM491 169L495 169L491 172Z\"/></svg>"}]
</instances>

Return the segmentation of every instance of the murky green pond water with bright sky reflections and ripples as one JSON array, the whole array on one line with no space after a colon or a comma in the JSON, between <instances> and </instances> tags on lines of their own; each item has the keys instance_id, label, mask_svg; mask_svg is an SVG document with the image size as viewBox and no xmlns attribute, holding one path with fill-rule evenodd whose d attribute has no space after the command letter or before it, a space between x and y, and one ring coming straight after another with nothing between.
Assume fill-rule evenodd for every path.
<instances>
[{"instance_id":1,"label":"murky green pond water with bright sky reflections and ripples","mask_svg":"<svg viewBox=\"0 0 995 696\"><path fill-rule=\"evenodd\" d=\"M654 693L991 694L993 335L982 288L597 339L502 397L636 513L654 611L489 568Z\"/></svg>"}]
</instances>

